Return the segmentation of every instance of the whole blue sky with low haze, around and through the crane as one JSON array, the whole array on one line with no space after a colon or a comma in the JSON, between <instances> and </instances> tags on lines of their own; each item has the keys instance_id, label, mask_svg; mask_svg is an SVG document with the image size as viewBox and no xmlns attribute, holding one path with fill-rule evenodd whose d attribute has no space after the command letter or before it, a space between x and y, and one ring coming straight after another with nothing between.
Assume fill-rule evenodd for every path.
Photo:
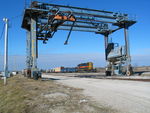
<instances>
[{"instance_id":1,"label":"whole blue sky with low haze, around and through the crane","mask_svg":"<svg viewBox=\"0 0 150 113\"><path fill-rule=\"evenodd\" d=\"M30 0L26 0L30 2ZM150 65L150 1L149 0L39 0L42 2L122 12L136 17L137 23L130 27L130 50L132 64ZM3 69L4 37L1 37L3 17L9 25L9 69L25 68L26 31L21 28L25 0L0 0L0 70ZM38 67L49 69L59 66L75 67L81 62L94 62L96 67L105 66L104 39L102 35L72 32L69 45L64 45L68 31L58 31L47 44L39 42ZM123 30L110 36L113 42L123 41Z\"/></svg>"}]
</instances>

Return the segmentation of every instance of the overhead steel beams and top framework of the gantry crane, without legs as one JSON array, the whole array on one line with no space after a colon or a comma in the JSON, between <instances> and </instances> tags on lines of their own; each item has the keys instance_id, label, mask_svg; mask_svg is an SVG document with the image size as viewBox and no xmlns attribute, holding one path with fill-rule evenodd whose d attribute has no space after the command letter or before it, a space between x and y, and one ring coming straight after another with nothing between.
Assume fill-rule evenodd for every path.
<instances>
[{"instance_id":1,"label":"overhead steel beams and top framework of the gantry crane, without legs","mask_svg":"<svg viewBox=\"0 0 150 113\"><path fill-rule=\"evenodd\" d=\"M30 30L29 18L31 18L31 16L37 18L39 25L39 27L37 27L37 36L45 40L51 38L51 34L57 30L70 30L68 29L72 25L69 23L70 20L59 20L55 18L56 16L66 16L67 18L69 18L69 16L75 17L76 22L72 29L74 31L95 32L99 34L114 31L115 29L110 28L111 26L123 28L125 23L128 23L128 27L135 23L134 20L129 19L127 14L47 4L37 1L32 2L31 6L25 10L22 23L23 28ZM104 28L103 25L106 24L107 27Z\"/></svg>"}]
</instances>

